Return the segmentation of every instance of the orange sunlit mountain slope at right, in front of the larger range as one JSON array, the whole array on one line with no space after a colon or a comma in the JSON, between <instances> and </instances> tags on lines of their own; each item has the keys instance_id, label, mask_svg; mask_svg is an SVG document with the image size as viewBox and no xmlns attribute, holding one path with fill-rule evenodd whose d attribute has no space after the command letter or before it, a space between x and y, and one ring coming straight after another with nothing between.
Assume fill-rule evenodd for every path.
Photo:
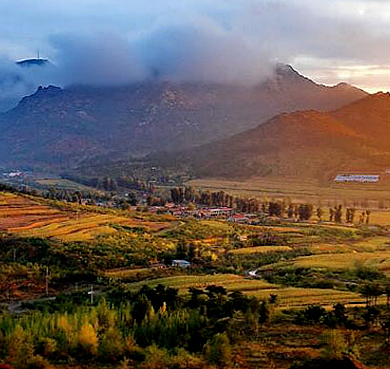
<instances>
[{"instance_id":1,"label":"orange sunlit mountain slope at right, in front of the larger range","mask_svg":"<svg viewBox=\"0 0 390 369\"><path fill-rule=\"evenodd\" d=\"M390 167L390 95L370 95L331 112L280 114L228 139L183 153L203 177L305 176ZM177 157L177 156L176 156ZM165 165L176 157L166 157Z\"/></svg>"}]
</instances>

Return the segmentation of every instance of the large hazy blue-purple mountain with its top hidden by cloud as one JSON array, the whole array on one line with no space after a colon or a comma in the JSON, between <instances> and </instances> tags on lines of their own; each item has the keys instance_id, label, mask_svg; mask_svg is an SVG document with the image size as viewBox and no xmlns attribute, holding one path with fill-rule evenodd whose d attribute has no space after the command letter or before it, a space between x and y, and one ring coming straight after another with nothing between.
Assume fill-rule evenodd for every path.
<instances>
[{"instance_id":1,"label":"large hazy blue-purple mountain with its top hidden by cloud","mask_svg":"<svg viewBox=\"0 0 390 369\"><path fill-rule=\"evenodd\" d=\"M40 87L0 115L0 164L69 168L187 149L281 112L327 111L366 95L346 84L316 84L286 65L254 87L156 81Z\"/></svg>"}]
</instances>

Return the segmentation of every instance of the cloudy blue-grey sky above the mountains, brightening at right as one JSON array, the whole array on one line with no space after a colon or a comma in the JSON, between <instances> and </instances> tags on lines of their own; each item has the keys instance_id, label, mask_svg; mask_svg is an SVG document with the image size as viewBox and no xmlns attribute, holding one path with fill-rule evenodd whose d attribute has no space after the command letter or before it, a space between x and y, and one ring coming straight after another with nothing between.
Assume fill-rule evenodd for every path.
<instances>
[{"instance_id":1,"label":"cloudy blue-grey sky above the mountains, brightening at right","mask_svg":"<svg viewBox=\"0 0 390 369\"><path fill-rule=\"evenodd\" d=\"M389 21L390 0L1 0L0 95L156 77L255 85L275 63L388 91ZM14 61L38 50L55 67L20 76Z\"/></svg>"}]
</instances>

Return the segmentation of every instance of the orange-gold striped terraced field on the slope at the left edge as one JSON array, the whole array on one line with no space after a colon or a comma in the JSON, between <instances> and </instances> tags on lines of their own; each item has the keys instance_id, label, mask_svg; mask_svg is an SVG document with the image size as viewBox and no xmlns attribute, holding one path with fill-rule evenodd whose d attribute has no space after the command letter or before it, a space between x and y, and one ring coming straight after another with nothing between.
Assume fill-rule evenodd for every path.
<instances>
[{"instance_id":1,"label":"orange-gold striped terraced field on the slope at the left edge","mask_svg":"<svg viewBox=\"0 0 390 369\"><path fill-rule=\"evenodd\" d=\"M169 223L145 221L130 216L60 210L27 197L0 193L0 230L10 233L57 238L62 241L85 241L98 235L117 232L114 225L161 231Z\"/></svg>"}]
</instances>

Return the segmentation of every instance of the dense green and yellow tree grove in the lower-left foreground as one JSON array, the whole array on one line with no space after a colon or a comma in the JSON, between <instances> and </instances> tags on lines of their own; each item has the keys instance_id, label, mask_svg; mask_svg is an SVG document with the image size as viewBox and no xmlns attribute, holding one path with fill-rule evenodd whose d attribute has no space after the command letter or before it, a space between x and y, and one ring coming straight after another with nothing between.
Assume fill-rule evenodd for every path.
<instances>
[{"instance_id":1,"label":"dense green and yellow tree grove in the lower-left foreground","mask_svg":"<svg viewBox=\"0 0 390 369\"><path fill-rule=\"evenodd\" d=\"M42 312L19 319L0 316L0 364L3 360L17 369L49 368L57 362L224 367L232 361L231 344L256 335L271 312L266 301L213 285L190 288L189 298L163 285L138 292L118 287L93 306L87 295L80 298L70 311L49 313L41 305Z\"/></svg>"}]
</instances>

